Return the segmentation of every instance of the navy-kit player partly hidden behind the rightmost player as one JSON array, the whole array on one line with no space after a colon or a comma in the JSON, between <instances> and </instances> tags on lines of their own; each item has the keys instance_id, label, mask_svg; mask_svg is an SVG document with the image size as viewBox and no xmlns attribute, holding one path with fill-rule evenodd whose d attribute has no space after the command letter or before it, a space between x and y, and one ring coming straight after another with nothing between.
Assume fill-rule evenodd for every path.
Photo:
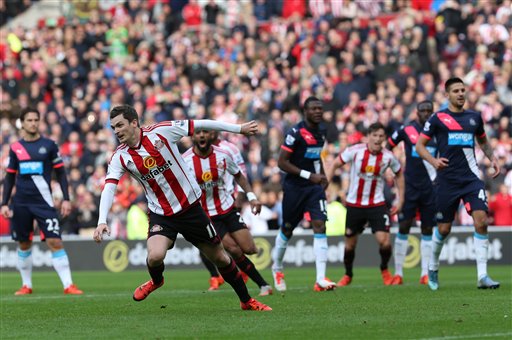
<instances>
[{"instance_id":1,"label":"navy-kit player partly hidden behind the rightmost player","mask_svg":"<svg viewBox=\"0 0 512 340\"><path fill-rule=\"evenodd\" d=\"M423 101L416 107L418 118L410 124L395 131L388 138L388 149L396 147L400 142L405 146L405 202L402 212L398 214L398 234L395 238L395 276L393 285L403 283L403 264L407 253L409 231L416 212L421 216L421 276L420 283L428 282L428 261L432 252L432 227L435 223L435 196L432 182L436 170L430 163L424 161L416 152L416 142L423 130L423 125L433 113L431 101ZM429 141L427 150L435 155L437 152L434 140Z\"/></svg>"}]
</instances>

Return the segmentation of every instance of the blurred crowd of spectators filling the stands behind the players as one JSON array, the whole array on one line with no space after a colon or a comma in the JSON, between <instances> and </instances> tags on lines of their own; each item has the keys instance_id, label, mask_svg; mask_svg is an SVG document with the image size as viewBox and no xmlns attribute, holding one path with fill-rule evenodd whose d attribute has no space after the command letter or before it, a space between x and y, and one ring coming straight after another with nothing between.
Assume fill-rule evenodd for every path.
<instances>
[{"instance_id":1,"label":"blurred crowd of spectators filling the stands behind the players","mask_svg":"<svg viewBox=\"0 0 512 340\"><path fill-rule=\"evenodd\" d=\"M0 0L0 173L3 179L9 144L19 138L20 109L37 108L41 133L60 145L68 172L74 209L64 233L96 226L117 146L108 118L115 105L133 105L143 125L256 120L257 136L225 138L243 152L266 206L258 217L244 214L258 234L278 228L277 157L286 131L302 119L305 98L324 101L328 165L364 142L371 123L382 122L390 134L416 118L420 101L446 107L443 85L451 76L467 84L467 108L482 113L501 165L490 180L477 149L490 224L512 225L510 0L61 0L57 19L13 25L35 2ZM190 146L182 140L183 151ZM403 159L400 148L395 152ZM347 170L328 188L331 227L344 223L339 201ZM58 206L60 187L52 188ZM114 237L145 237L141 196L125 176L109 217ZM463 208L456 223L472 224ZM7 233L8 221L2 225Z\"/></svg>"}]
</instances>

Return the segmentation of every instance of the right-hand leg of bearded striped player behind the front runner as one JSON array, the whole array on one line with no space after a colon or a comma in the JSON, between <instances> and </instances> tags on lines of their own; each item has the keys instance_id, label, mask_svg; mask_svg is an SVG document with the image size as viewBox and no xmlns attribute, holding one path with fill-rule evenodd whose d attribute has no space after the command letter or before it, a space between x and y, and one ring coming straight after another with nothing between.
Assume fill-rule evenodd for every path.
<instances>
[{"instance_id":1,"label":"right-hand leg of bearded striped player behind the front runner","mask_svg":"<svg viewBox=\"0 0 512 340\"><path fill-rule=\"evenodd\" d=\"M242 273L247 274L260 288L260 295L272 294L272 287L261 276L260 272L252 261L245 254L253 255L258 252L249 229L242 228L227 233L222 238L222 245L226 251L233 257L238 268ZM246 281L247 282L247 281Z\"/></svg>"}]
</instances>

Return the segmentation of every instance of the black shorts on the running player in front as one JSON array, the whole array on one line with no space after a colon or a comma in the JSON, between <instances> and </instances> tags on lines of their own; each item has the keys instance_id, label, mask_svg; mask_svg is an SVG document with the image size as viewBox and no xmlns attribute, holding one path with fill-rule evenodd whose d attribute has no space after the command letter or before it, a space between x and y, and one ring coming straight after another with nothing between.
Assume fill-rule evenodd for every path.
<instances>
[{"instance_id":1,"label":"black shorts on the running player in front","mask_svg":"<svg viewBox=\"0 0 512 340\"><path fill-rule=\"evenodd\" d=\"M173 216L162 216L149 212L148 238L162 235L176 241L178 234L197 246L198 243L219 244L220 237L200 204Z\"/></svg>"}]
</instances>

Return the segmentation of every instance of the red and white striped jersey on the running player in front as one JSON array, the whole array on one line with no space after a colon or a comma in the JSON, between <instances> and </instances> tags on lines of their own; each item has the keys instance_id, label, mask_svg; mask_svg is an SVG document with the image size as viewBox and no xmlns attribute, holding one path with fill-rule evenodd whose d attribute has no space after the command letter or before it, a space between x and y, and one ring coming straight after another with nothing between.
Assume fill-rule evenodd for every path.
<instances>
[{"instance_id":1,"label":"red and white striped jersey on the running player in front","mask_svg":"<svg viewBox=\"0 0 512 340\"><path fill-rule=\"evenodd\" d=\"M140 144L121 144L108 165L105 183L117 184L128 172L144 188L150 211L172 216L201 197L201 188L176 142L194 132L192 120L166 121L141 128Z\"/></svg>"}]
</instances>

